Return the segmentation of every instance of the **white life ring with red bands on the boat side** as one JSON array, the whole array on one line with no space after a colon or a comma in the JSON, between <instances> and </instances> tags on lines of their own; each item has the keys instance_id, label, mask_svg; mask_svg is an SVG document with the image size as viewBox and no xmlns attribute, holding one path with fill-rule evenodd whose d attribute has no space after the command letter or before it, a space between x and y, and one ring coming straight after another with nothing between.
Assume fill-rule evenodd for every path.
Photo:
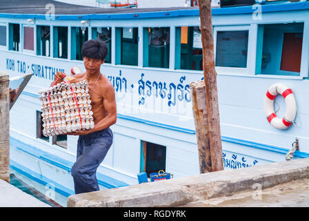
<instances>
[{"instance_id":1,"label":"white life ring with red bands on the boat side","mask_svg":"<svg viewBox=\"0 0 309 221\"><path fill-rule=\"evenodd\" d=\"M277 117L274 111L274 100L278 94L282 95L286 102L286 113L282 119ZM272 126L286 130L293 124L297 113L296 100L292 90L281 83L270 86L264 99L264 111L268 122Z\"/></svg>"}]
</instances>

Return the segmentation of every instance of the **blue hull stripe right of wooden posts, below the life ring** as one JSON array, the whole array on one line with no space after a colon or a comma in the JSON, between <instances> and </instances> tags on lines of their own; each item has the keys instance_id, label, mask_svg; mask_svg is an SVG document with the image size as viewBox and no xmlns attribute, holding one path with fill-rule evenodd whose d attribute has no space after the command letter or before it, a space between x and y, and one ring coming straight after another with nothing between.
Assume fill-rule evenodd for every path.
<instances>
[{"instance_id":1,"label":"blue hull stripe right of wooden posts, below the life ring","mask_svg":"<svg viewBox=\"0 0 309 221\"><path fill-rule=\"evenodd\" d=\"M232 137L226 137L226 136L221 136L221 140L223 142L241 144L243 146L250 146L250 147L258 148L258 149L261 149L261 150L264 150L264 151L271 151L271 152L281 153L281 154L285 154L285 155L289 151L286 148L281 148L281 147L278 147L278 146L272 146L272 145L268 145L268 144L259 144L257 142L251 142L251 141L248 141L248 140L241 140L241 139L238 139L238 138L232 138ZM295 157L300 157L300 158L309 157L309 153L301 152L301 151L295 151L294 155L295 155Z\"/></svg>"}]
</instances>

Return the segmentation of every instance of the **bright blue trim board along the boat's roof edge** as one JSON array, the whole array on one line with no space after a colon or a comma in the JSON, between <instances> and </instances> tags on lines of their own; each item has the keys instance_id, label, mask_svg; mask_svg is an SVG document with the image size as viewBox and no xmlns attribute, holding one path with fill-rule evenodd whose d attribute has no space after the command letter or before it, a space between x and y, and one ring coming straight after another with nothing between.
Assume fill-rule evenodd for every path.
<instances>
[{"instance_id":1,"label":"bright blue trim board along the boat's roof edge","mask_svg":"<svg viewBox=\"0 0 309 221\"><path fill-rule=\"evenodd\" d=\"M292 10L308 10L309 2L276 3L262 6L262 12L279 12ZM255 10L252 6L237 6L228 8L212 8L212 15L235 15L251 14ZM116 13L116 14L86 14L86 15L56 15L56 20L85 20L85 19L151 19L164 17L188 17L199 16L199 9L190 10L166 10L163 12L138 12L138 13ZM0 14L0 17L21 19L46 19L45 15L37 14Z\"/></svg>"}]
</instances>

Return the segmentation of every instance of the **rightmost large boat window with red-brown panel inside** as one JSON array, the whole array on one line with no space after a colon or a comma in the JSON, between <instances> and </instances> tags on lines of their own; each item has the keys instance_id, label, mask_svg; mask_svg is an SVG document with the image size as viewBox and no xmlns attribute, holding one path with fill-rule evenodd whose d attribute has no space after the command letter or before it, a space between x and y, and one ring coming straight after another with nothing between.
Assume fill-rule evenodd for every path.
<instances>
[{"instance_id":1,"label":"rightmost large boat window with red-brown panel inside","mask_svg":"<svg viewBox=\"0 0 309 221\"><path fill-rule=\"evenodd\" d=\"M258 36L257 74L300 75L303 23L261 25Z\"/></svg>"}]
</instances>

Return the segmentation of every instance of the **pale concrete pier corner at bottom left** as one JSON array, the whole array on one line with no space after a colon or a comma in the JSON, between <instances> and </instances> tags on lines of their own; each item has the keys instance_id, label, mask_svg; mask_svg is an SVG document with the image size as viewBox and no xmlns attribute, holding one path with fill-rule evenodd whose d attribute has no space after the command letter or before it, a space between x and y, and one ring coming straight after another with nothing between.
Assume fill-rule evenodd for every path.
<instances>
[{"instance_id":1,"label":"pale concrete pier corner at bottom left","mask_svg":"<svg viewBox=\"0 0 309 221\"><path fill-rule=\"evenodd\" d=\"M0 180L0 207L51 207L17 187Z\"/></svg>"}]
</instances>

